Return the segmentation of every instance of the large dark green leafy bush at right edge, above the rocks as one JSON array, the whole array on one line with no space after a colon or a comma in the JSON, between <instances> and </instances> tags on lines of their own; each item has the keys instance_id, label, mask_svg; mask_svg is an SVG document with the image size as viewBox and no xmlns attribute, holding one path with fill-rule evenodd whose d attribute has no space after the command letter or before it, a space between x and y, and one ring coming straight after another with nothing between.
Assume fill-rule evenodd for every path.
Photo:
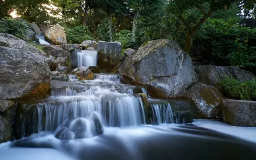
<instances>
[{"instance_id":1,"label":"large dark green leafy bush at right edge, above the rocks","mask_svg":"<svg viewBox=\"0 0 256 160\"><path fill-rule=\"evenodd\" d=\"M234 25L234 21L209 19L195 35L195 42L210 52L216 65L256 66L256 29Z\"/></svg>"}]
</instances>

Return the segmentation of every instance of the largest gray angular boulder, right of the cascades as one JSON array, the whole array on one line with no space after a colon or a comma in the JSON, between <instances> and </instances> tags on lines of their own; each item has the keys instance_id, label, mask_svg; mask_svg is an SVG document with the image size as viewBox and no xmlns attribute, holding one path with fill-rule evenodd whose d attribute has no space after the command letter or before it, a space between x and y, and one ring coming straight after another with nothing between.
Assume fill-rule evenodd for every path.
<instances>
[{"instance_id":1,"label":"largest gray angular boulder, right of the cascades","mask_svg":"<svg viewBox=\"0 0 256 160\"><path fill-rule=\"evenodd\" d=\"M185 89L197 81L189 55L168 39L140 47L126 58L119 73L135 83L150 85L149 94L156 98L183 96Z\"/></svg>"}]
</instances>

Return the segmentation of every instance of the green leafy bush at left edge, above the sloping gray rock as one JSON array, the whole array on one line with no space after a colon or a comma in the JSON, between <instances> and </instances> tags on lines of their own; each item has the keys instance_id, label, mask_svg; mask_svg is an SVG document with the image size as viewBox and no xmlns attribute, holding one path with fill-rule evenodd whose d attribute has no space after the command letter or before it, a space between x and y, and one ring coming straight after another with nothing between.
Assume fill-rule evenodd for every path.
<instances>
[{"instance_id":1,"label":"green leafy bush at left edge, above the sloping gray rock","mask_svg":"<svg viewBox=\"0 0 256 160\"><path fill-rule=\"evenodd\" d=\"M29 26L21 19L2 18L0 20L0 33L9 33L18 38L24 38Z\"/></svg>"}]
</instances>

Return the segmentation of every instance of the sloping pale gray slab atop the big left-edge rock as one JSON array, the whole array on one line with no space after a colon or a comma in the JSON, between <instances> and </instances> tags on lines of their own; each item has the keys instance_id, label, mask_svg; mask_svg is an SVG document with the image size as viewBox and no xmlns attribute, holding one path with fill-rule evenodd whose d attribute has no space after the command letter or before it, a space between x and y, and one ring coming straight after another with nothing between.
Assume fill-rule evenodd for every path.
<instances>
[{"instance_id":1,"label":"sloping pale gray slab atop the big left-edge rock","mask_svg":"<svg viewBox=\"0 0 256 160\"><path fill-rule=\"evenodd\" d=\"M40 54L46 56L46 53L40 49L37 49L32 44L28 44L27 42L19 39L11 34L0 33L0 46L9 47L12 49L25 50L25 52L31 52L35 54Z\"/></svg>"}]
</instances>

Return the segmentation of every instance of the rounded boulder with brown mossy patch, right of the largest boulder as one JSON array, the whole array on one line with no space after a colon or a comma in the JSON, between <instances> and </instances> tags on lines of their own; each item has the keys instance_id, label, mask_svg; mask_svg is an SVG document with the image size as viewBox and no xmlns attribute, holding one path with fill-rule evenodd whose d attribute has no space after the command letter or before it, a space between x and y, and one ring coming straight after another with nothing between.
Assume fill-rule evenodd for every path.
<instances>
[{"instance_id":1,"label":"rounded boulder with brown mossy patch, right of the largest boulder","mask_svg":"<svg viewBox=\"0 0 256 160\"><path fill-rule=\"evenodd\" d=\"M202 113L202 118L221 118L223 96L214 86L197 82L189 88L187 97L194 101L198 110Z\"/></svg>"}]
</instances>

